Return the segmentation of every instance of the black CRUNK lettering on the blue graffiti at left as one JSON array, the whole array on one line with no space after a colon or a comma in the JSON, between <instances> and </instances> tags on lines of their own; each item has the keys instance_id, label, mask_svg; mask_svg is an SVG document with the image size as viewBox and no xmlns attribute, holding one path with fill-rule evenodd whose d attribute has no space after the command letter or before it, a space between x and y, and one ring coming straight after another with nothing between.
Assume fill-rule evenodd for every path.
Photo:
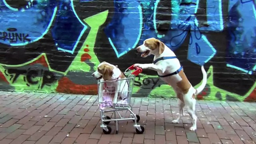
<instances>
[{"instance_id":1,"label":"black CRUNK lettering on the blue graffiti at left","mask_svg":"<svg viewBox=\"0 0 256 144\"><path fill-rule=\"evenodd\" d=\"M21 34L21 33L17 33L15 31L17 31L16 28L8 28L7 29L8 32L6 31L2 31L0 32L0 40L9 40L10 43L17 43L19 42L29 42L31 41L28 37L28 34Z\"/></svg>"}]
</instances>

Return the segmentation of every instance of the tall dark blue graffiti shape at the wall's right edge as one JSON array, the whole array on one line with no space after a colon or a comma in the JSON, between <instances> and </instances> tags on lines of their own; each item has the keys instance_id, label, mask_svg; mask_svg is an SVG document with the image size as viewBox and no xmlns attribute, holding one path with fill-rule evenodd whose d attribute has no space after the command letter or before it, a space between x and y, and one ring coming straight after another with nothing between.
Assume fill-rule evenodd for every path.
<instances>
[{"instance_id":1,"label":"tall dark blue graffiti shape at the wall's right edge","mask_svg":"<svg viewBox=\"0 0 256 144\"><path fill-rule=\"evenodd\" d=\"M230 1L227 66L252 74L256 69L256 7L251 0Z\"/></svg>"}]
</instances>

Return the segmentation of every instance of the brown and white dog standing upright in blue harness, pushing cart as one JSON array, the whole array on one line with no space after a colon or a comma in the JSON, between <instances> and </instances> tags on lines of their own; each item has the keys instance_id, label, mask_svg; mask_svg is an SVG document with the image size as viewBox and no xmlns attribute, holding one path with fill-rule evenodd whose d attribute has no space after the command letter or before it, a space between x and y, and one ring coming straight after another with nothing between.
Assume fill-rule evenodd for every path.
<instances>
[{"instance_id":1,"label":"brown and white dog standing upright in blue harness, pushing cart","mask_svg":"<svg viewBox=\"0 0 256 144\"><path fill-rule=\"evenodd\" d=\"M185 76L182 66L174 52L161 41L157 40L156 38L149 38L145 40L141 46L137 47L137 51L142 53L141 57L147 57L150 54L153 54L154 62L149 64L135 64L134 66L142 69L152 69L157 71L160 78L172 86L178 97L180 114L178 118L172 122L178 123L181 116L184 116L183 109L187 108L187 112L190 115L193 123L193 125L190 127L190 130L195 131L197 128L195 96L199 94L203 88L205 88L207 81L207 73L204 67L201 67L203 73L203 82L197 89L195 89ZM165 59L162 59L163 57L165 57Z\"/></svg>"}]
</instances>

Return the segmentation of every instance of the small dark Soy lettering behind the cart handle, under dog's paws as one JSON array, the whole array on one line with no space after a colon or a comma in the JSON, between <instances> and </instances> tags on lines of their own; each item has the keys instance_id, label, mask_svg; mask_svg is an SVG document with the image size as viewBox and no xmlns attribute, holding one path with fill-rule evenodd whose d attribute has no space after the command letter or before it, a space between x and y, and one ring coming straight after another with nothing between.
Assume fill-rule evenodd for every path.
<instances>
[{"instance_id":1,"label":"small dark Soy lettering behind the cart handle, under dog's paws","mask_svg":"<svg viewBox=\"0 0 256 144\"><path fill-rule=\"evenodd\" d=\"M152 87L148 87L144 89L154 89L156 87L157 82L159 81L159 79L153 79L153 78L145 78L142 80L142 83L140 82L141 77L140 76L136 76L138 78L138 81L134 80L134 85L141 87L143 85L147 86L147 85L152 85Z\"/></svg>"}]
</instances>

